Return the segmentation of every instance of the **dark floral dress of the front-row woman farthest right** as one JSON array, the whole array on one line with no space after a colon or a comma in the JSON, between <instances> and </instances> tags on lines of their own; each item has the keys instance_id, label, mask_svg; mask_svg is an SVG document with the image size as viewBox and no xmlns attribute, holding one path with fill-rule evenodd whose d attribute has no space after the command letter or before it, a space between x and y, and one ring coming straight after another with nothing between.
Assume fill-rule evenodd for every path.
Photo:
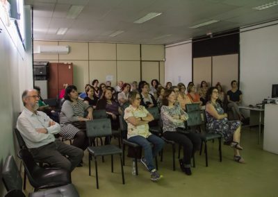
<instances>
[{"instance_id":1,"label":"dark floral dress of the front-row woman farthest right","mask_svg":"<svg viewBox=\"0 0 278 197\"><path fill-rule=\"evenodd\" d=\"M208 101L208 103L211 103L211 101ZM211 104L213 105L213 103ZM224 114L224 110L221 108L219 103L215 103L213 106L218 114ZM240 126L240 121L228 121L227 118L218 120L211 116L208 112L206 112L206 119L208 132L222 135L224 142L233 141L234 132Z\"/></svg>"}]
</instances>

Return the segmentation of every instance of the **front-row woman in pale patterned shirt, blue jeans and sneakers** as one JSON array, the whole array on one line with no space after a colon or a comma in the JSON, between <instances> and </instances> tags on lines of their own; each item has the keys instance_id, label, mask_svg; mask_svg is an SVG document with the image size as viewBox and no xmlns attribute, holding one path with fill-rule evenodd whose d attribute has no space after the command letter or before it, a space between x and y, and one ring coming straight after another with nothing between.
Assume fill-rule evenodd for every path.
<instances>
[{"instance_id":1,"label":"front-row woman in pale patterned shirt, blue jeans and sneakers","mask_svg":"<svg viewBox=\"0 0 278 197\"><path fill-rule=\"evenodd\" d=\"M130 142L142 146L145 152L145 157L142 157L141 162L151 173L151 180L157 181L163 178L154 167L154 157L162 150L164 141L156 135L149 132L149 121L153 121L154 117L146 108L140 105L140 94L138 92L130 92L129 105L124 110L124 120L127 123L127 138ZM149 143L154 144L154 148Z\"/></svg>"}]
</instances>

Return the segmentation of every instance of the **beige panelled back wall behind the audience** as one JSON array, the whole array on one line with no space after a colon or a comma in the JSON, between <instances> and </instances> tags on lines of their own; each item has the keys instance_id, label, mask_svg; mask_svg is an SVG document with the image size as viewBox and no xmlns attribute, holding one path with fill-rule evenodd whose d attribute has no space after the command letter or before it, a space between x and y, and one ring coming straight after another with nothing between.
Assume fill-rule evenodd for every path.
<instances>
[{"instance_id":1,"label":"beige panelled back wall behind the audience","mask_svg":"<svg viewBox=\"0 0 278 197\"><path fill-rule=\"evenodd\" d=\"M40 45L70 46L68 54L35 53L34 60L72 62L74 85L79 91L83 91L84 85L92 83L95 78L99 80L99 83L104 83L106 77L112 77L113 86L116 85L117 80L123 80L126 83L131 83L133 80L140 81L141 61L143 60L159 65L159 72L149 72L147 78L157 78L164 84L165 53L163 45L35 41L34 49ZM152 67L149 68L153 70ZM144 65L144 71L146 69L148 69L148 65Z\"/></svg>"}]
</instances>

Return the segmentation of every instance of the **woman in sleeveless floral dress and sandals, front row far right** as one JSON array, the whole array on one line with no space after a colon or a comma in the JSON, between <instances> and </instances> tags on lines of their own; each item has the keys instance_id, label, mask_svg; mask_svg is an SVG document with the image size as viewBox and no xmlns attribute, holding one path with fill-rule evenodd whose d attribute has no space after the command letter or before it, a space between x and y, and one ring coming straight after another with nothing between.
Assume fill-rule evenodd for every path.
<instances>
[{"instance_id":1,"label":"woman in sleeveless floral dress and sandals, front row far right","mask_svg":"<svg viewBox=\"0 0 278 197\"><path fill-rule=\"evenodd\" d=\"M210 87L206 93L206 119L209 132L222 135L225 144L231 144L234 148L234 160L244 163L243 157L238 150L243 150L240 146L240 121L228 121L227 114L216 102L218 99L218 89Z\"/></svg>"}]
</instances>

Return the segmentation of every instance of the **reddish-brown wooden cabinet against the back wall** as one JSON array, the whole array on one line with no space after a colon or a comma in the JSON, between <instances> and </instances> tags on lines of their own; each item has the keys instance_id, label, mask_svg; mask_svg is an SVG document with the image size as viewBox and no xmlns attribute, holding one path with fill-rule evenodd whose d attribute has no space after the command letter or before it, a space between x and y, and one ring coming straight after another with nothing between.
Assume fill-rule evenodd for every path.
<instances>
[{"instance_id":1,"label":"reddish-brown wooden cabinet against the back wall","mask_svg":"<svg viewBox=\"0 0 278 197\"><path fill-rule=\"evenodd\" d=\"M55 98L63 84L73 84L72 63L49 63L48 98Z\"/></svg>"}]
</instances>

